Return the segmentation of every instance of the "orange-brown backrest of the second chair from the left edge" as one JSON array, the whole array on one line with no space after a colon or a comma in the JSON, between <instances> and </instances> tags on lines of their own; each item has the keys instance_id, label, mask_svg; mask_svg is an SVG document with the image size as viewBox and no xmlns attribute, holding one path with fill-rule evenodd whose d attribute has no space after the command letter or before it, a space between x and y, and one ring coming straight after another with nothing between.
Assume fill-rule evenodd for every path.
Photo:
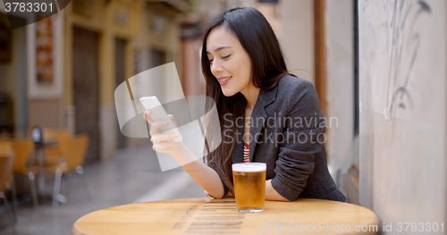
<instances>
[{"instance_id":1,"label":"orange-brown backrest of the second chair from the left edge","mask_svg":"<svg viewBox=\"0 0 447 235\"><path fill-rule=\"evenodd\" d=\"M13 142L13 150L15 153L13 172L25 172L26 163L34 150L34 142L28 138L17 139Z\"/></svg>"}]
</instances>

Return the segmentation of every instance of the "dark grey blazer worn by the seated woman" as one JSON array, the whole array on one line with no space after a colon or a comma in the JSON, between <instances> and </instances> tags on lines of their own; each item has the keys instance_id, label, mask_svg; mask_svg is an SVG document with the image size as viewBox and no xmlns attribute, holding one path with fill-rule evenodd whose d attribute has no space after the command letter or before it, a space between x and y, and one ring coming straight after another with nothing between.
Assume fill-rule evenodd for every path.
<instances>
[{"instance_id":1,"label":"dark grey blazer worn by the seated woman","mask_svg":"<svg viewBox=\"0 0 447 235\"><path fill-rule=\"evenodd\" d=\"M239 121L232 163L243 163ZM346 201L327 170L324 142L325 118L312 83L286 75L274 88L260 90L251 113L249 159L266 163L266 179L281 196Z\"/></svg>"}]
</instances>

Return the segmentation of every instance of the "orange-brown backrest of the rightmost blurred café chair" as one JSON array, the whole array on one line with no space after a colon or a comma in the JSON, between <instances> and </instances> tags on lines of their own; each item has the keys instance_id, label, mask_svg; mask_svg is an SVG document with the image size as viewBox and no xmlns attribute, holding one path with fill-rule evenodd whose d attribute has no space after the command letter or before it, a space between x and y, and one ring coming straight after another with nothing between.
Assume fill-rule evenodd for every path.
<instances>
[{"instance_id":1,"label":"orange-brown backrest of the rightmost blurred caf\u00e9 chair","mask_svg":"<svg viewBox=\"0 0 447 235\"><path fill-rule=\"evenodd\" d=\"M73 172L77 166L84 163L89 147L89 135L84 133L74 138L70 136L60 137L57 142L63 158L65 158L68 171Z\"/></svg>"}]
</instances>

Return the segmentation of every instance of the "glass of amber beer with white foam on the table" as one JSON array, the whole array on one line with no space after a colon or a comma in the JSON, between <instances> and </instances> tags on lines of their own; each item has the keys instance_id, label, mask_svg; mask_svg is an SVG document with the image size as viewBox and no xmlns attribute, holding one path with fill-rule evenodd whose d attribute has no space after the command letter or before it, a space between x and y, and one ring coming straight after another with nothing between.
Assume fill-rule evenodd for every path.
<instances>
[{"instance_id":1,"label":"glass of amber beer with white foam on the table","mask_svg":"<svg viewBox=\"0 0 447 235\"><path fill-rule=\"evenodd\" d=\"M266 204L266 164L232 164L238 212L262 212Z\"/></svg>"}]
</instances>

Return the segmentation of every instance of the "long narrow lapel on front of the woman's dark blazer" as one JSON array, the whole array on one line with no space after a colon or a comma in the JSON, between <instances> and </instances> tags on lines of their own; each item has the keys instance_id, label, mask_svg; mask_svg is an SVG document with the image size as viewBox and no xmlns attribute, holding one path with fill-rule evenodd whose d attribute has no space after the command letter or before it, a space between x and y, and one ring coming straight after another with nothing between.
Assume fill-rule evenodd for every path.
<instances>
[{"instance_id":1,"label":"long narrow lapel on front of the woman's dark blazer","mask_svg":"<svg viewBox=\"0 0 447 235\"><path fill-rule=\"evenodd\" d=\"M261 89L259 95L257 95L257 101L251 112L251 122L250 122L250 143L249 143L249 158L250 162L253 161L253 155L255 153L255 147L257 145L257 138L259 138L259 133L264 127L266 122L266 106L272 104L276 99L276 93L278 91L278 86L271 88L269 90ZM243 130L242 130L243 132ZM240 150L242 151L242 150Z\"/></svg>"}]
</instances>

